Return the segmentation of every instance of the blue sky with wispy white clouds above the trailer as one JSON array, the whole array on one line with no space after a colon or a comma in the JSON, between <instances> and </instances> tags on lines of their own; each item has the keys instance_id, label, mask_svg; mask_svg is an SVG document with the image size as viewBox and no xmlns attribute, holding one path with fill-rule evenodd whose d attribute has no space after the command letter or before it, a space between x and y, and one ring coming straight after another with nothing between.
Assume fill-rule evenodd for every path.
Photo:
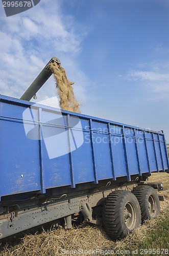
<instances>
[{"instance_id":1,"label":"blue sky with wispy white clouds above the trailer","mask_svg":"<svg viewBox=\"0 0 169 256\"><path fill-rule=\"evenodd\" d=\"M169 142L168 0L41 0L11 17L0 3L0 14L1 94L20 97L56 56L82 113L164 130ZM56 96L52 77L37 96Z\"/></svg>"}]
</instances>

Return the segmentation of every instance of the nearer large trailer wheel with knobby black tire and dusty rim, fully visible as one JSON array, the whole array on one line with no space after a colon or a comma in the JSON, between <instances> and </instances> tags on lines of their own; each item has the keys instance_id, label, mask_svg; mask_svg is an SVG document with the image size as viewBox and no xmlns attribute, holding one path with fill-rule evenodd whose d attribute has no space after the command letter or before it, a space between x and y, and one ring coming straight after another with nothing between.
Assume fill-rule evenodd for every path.
<instances>
[{"instance_id":1,"label":"nearer large trailer wheel with knobby black tire and dusty rim, fully visible","mask_svg":"<svg viewBox=\"0 0 169 256\"><path fill-rule=\"evenodd\" d=\"M141 224L141 211L136 197L129 191L110 193L103 205L103 226L108 236L123 239Z\"/></svg>"}]
</instances>

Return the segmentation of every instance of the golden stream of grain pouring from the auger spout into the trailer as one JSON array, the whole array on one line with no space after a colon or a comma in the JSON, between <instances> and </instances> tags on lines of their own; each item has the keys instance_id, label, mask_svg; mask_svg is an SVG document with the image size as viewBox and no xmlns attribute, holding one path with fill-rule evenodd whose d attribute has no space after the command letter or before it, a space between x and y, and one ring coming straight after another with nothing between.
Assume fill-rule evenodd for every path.
<instances>
[{"instance_id":1,"label":"golden stream of grain pouring from the auger spout into the trailer","mask_svg":"<svg viewBox=\"0 0 169 256\"><path fill-rule=\"evenodd\" d=\"M49 68L54 74L60 108L81 113L80 103L76 99L72 87L74 82L68 80L65 70L59 63L53 62L49 65Z\"/></svg>"}]
</instances>

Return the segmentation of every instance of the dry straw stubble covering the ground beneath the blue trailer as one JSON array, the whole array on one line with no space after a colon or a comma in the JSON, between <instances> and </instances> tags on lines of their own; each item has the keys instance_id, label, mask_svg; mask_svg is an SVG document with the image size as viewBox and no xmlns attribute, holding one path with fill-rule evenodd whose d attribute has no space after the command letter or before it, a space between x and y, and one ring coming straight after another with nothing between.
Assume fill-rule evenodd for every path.
<instances>
[{"instance_id":1,"label":"dry straw stubble covering the ground beneath the blue trailer","mask_svg":"<svg viewBox=\"0 0 169 256\"><path fill-rule=\"evenodd\" d=\"M166 173L153 174L149 182L163 182L164 190L160 191L159 194L164 195L166 199L165 202L161 202L161 215L155 220L147 221L121 241L111 241L100 227L82 224L71 230L59 227L53 230L43 230L41 233L28 234L18 239L15 245L9 245L8 243L4 246L1 245L0 255L70 255L71 250L76 252L79 249L89 251L97 248L102 250L111 248L116 251L118 249L123 250L124 248L128 250L143 248L142 246L147 248L150 245L152 246L151 248L153 246L154 248L163 248L162 246L166 246L166 239L168 241L169 232L169 175ZM158 235L157 230L163 230L163 235ZM150 244L147 245L148 241ZM66 251L69 251L69 254L63 254ZM85 255L89 255L89 253ZM101 255L101 253L98 252L97 255Z\"/></svg>"}]
</instances>

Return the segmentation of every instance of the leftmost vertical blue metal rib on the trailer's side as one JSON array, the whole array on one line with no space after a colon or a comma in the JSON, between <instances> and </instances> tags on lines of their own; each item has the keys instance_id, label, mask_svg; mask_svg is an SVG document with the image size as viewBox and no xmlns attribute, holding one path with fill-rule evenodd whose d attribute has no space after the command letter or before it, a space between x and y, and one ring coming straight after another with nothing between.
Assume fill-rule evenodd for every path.
<instances>
[{"instance_id":1,"label":"leftmost vertical blue metal rib on the trailer's side","mask_svg":"<svg viewBox=\"0 0 169 256\"><path fill-rule=\"evenodd\" d=\"M45 179L44 179L44 169L43 169L43 163L42 163L42 124L41 124L41 115L42 115L42 109L39 108L38 111L38 133L39 133L39 166L40 166L40 187L41 187L41 193L45 193Z\"/></svg>"}]
</instances>

